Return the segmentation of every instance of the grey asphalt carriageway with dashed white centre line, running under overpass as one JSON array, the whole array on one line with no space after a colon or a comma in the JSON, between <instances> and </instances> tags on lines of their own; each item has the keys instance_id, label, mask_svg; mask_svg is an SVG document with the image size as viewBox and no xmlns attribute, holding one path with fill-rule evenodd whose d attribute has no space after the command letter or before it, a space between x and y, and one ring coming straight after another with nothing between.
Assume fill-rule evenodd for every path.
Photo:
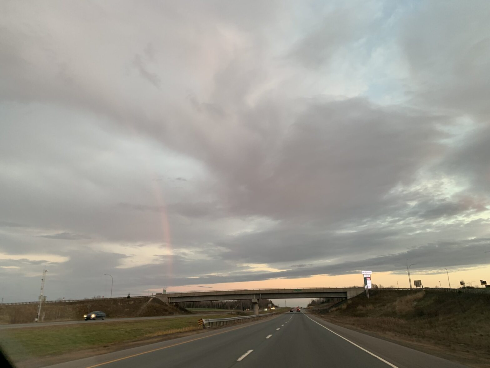
<instances>
[{"instance_id":1,"label":"grey asphalt carriageway with dashed white centre line, running under overpass","mask_svg":"<svg viewBox=\"0 0 490 368\"><path fill-rule=\"evenodd\" d=\"M50 368L461 368L294 312Z\"/></svg>"}]
</instances>

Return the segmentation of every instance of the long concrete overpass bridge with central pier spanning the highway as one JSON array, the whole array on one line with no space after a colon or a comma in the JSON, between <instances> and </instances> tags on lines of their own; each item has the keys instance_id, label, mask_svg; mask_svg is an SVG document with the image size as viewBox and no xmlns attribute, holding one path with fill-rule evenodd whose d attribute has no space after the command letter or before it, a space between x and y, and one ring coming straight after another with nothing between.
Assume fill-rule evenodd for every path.
<instances>
[{"instance_id":1,"label":"long concrete overpass bridge with central pier spanning the highway","mask_svg":"<svg viewBox=\"0 0 490 368\"><path fill-rule=\"evenodd\" d=\"M157 293L166 303L251 299L254 315L259 314L259 299L345 298L350 299L364 288L297 288L297 289L239 289Z\"/></svg>"}]
</instances>

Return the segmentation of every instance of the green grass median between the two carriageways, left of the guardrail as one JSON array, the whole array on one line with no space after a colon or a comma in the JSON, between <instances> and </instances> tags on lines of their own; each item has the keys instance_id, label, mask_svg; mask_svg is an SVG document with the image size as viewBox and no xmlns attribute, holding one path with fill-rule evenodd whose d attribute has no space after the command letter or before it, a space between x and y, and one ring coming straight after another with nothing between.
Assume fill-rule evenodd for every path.
<instances>
[{"instance_id":1,"label":"green grass median between the two carriageways, left of the guardrail","mask_svg":"<svg viewBox=\"0 0 490 368\"><path fill-rule=\"evenodd\" d=\"M14 362L66 354L123 342L157 338L176 332L198 330L199 318L236 315L196 315L196 318L162 318L121 322L93 322L0 330L0 346Z\"/></svg>"}]
</instances>

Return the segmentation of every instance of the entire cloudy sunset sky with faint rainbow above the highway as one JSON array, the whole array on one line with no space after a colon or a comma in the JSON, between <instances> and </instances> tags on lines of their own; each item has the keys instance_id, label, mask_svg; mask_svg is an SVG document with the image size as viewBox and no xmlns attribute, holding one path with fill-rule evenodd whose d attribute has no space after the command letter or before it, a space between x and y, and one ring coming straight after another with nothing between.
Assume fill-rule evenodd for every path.
<instances>
[{"instance_id":1,"label":"entire cloudy sunset sky with faint rainbow above the highway","mask_svg":"<svg viewBox=\"0 0 490 368\"><path fill-rule=\"evenodd\" d=\"M1 1L0 297L490 283L489 18Z\"/></svg>"}]
</instances>

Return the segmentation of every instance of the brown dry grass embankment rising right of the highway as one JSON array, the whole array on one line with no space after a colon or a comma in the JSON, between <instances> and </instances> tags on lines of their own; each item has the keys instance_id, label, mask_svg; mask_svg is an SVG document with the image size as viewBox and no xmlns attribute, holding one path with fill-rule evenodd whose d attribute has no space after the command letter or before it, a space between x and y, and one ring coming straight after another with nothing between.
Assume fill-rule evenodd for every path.
<instances>
[{"instance_id":1,"label":"brown dry grass embankment rising right of the highway","mask_svg":"<svg viewBox=\"0 0 490 368\"><path fill-rule=\"evenodd\" d=\"M490 367L490 294L431 290L371 290L321 315L410 347Z\"/></svg>"}]
</instances>

